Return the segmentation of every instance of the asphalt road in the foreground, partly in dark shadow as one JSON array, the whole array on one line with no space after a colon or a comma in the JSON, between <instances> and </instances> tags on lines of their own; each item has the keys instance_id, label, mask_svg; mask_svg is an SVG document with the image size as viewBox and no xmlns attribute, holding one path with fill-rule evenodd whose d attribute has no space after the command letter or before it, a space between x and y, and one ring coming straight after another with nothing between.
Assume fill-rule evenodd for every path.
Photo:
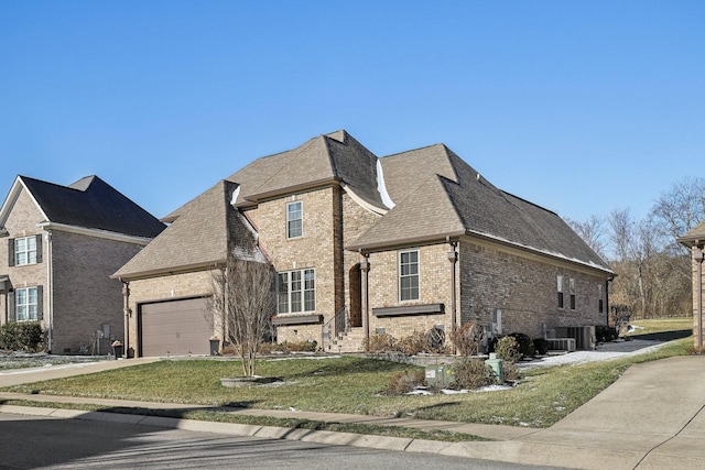
<instances>
[{"instance_id":1,"label":"asphalt road in the foreground, partly in dark shadow","mask_svg":"<svg viewBox=\"0 0 705 470\"><path fill-rule=\"evenodd\" d=\"M0 414L0 469L538 469L430 453ZM541 467L545 468L545 467Z\"/></svg>"}]
</instances>

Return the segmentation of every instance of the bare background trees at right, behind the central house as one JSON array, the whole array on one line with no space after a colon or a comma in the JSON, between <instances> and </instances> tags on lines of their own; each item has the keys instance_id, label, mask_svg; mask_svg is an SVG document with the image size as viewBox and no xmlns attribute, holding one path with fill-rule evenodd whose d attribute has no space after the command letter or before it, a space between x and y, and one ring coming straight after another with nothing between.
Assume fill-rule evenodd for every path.
<instances>
[{"instance_id":1,"label":"bare background trees at right, behind the central house","mask_svg":"<svg viewBox=\"0 0 705 470\"><path fill-rule=\"evenodd\" d=\"M615 318L652 318L693 314L691 254L676 238L704 219L705 179L685 177L643 219L625 208L567 222L617 274L609 287Z\"/></svg>"}]
</instances>

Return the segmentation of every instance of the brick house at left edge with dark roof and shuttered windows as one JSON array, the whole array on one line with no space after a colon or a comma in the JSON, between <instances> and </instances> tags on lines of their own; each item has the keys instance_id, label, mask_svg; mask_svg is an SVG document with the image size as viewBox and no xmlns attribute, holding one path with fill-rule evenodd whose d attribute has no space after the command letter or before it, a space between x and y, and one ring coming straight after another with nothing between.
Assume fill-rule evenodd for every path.
<instances>
[{"instance_id":1,"label":"brick house at left edge with dark roof and shuttered windows","mask_svg":"<svg viewBox=\"0 0 705 470\"><path fill-rule=\"evenodd\" d=\"M0 208L0 324L41 321L53 353L108 353L126 323L110 274L164 228L97 176L18 176Z\"/></svg>"}]
</instances>

